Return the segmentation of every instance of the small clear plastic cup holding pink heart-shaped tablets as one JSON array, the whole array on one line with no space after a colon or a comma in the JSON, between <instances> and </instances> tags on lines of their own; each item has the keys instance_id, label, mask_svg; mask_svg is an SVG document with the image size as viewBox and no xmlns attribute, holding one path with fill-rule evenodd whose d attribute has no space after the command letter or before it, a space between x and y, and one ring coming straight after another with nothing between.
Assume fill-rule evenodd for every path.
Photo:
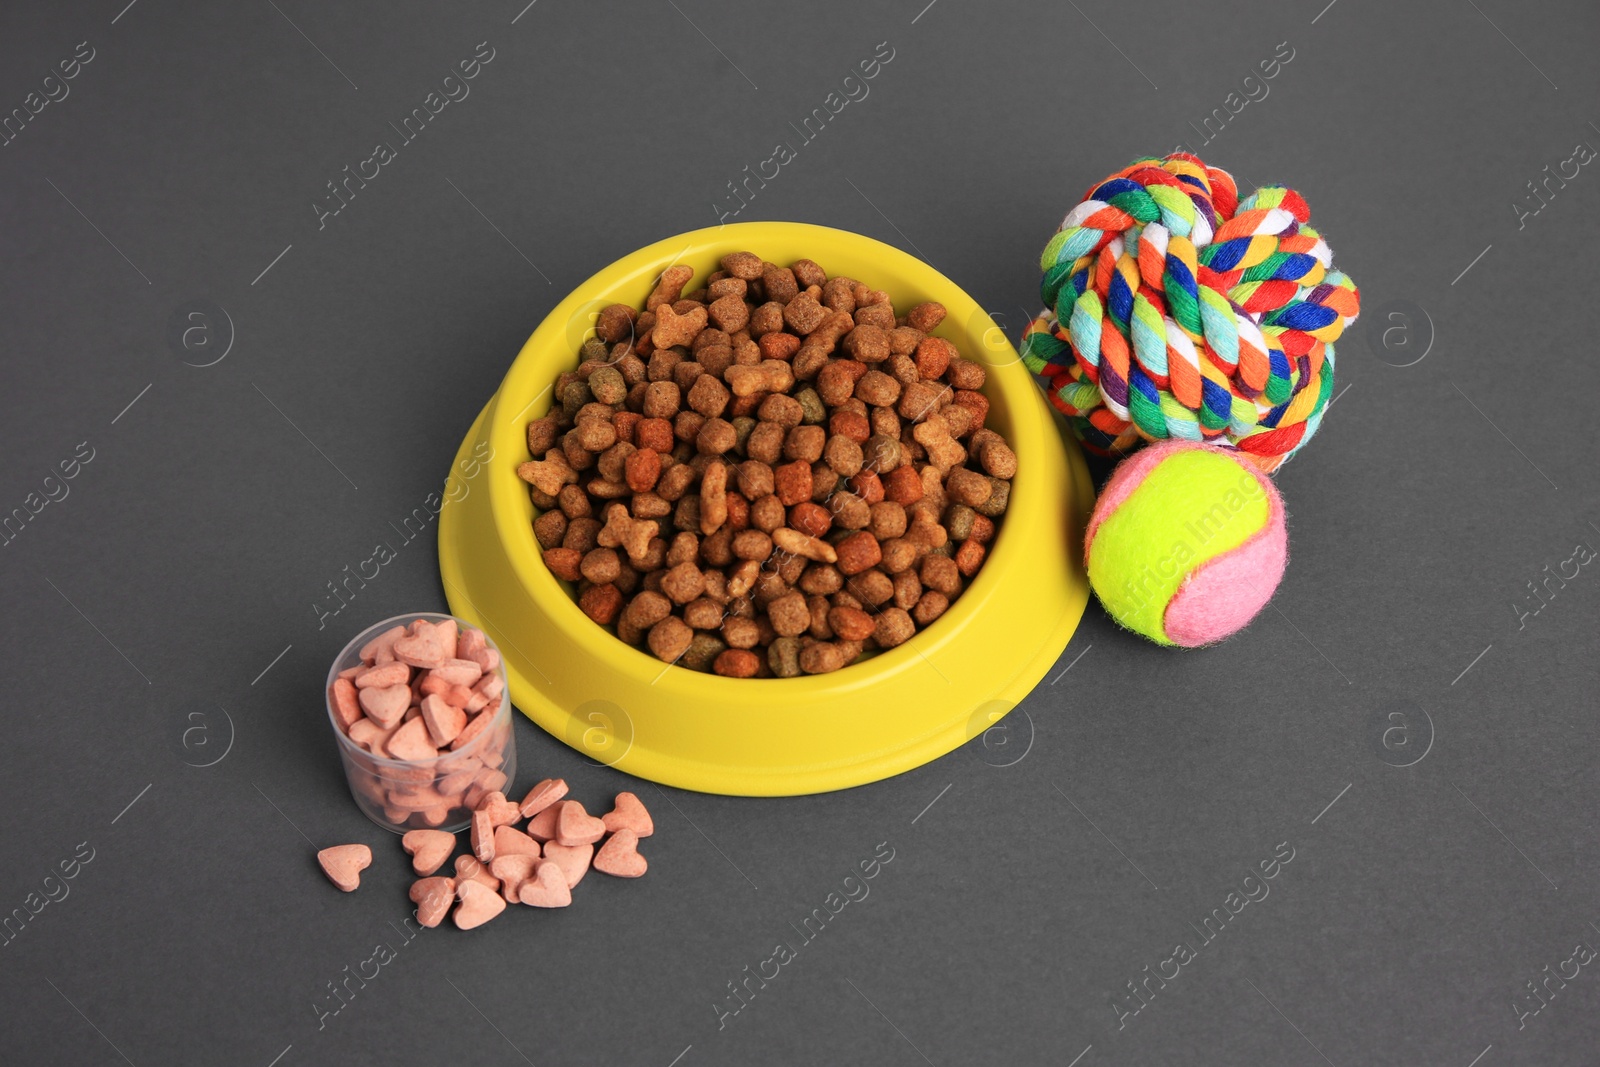
<instances>
[{"instance_id":1,"label":"small clear plastic cup holding pink heart-shaped tablets","mask_svg":"<svg viewBox=\"0 0 1600 1067\"><path fill-rule=\"evenodd\" d=\"M368 819L395 833L416 829L454 832L472 821L472 808L478 798L496 789L504 790L517 777L517 742L510 729L510 691L506 685L504 659L496 669L501 678L501 694L469 718L467 726L470 728L472 721L482 715L491 717L488 723L467 744L446 750L445 755L432 760L392 760L374 755L352 741L334 715L333 683L339 672L362 662L362 646L370 640L395 625L410 627L416 619L443 622L456 619L456 616L437 611L397 614L392 619L374 622L350 638L350 643L344 646L328 670L325 689L328 725L333 726L333 736L339 745L339 758L344 763L344 777L350 784L350 795ZM482 629L462 619L456 619L456 625L461 632ZM483 635L483 641L499 656L499 648L488 633Z\"/></svg>"}]
</instances>

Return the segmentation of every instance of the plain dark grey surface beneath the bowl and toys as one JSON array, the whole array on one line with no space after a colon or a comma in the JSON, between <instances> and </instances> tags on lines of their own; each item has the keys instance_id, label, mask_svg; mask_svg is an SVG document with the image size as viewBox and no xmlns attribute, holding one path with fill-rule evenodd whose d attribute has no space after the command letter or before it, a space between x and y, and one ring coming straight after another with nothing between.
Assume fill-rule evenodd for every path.
<instances>
[{"instance_id":1,"label":"plain dark grey surface beneath the bowl and toys","mask_svg":"<svg viewBox=\"0 0 1600 1067\"><path fill-rule=\"evenodd\" d=\"M1592 6L523 2L0 13L5 110L96 53L0 149L0 510L94 456L0 549L0 912L94 853L0 949L0 1061L1594 1062L1594 968L1523 1029L1512 1001L1600 945L1600 574L1520 629L1514 605L1600 545L1600 176L1509 206L1600 144ZM470 96L318 230L323 184L485 40ZM355 630L445 606L432 530L326 629L310 605L442 488L557 299L712 224L883 40L870 96L739 219L906 246L1013 336L1061 214L1136 155L1187 141L1310 202L1363 317L1278 475L1274 609L1178 654L1091 605L987 747L826 797L658 790L520 720L518 787L638 789L650 875L405 941L406 864L320 688ZM166 336L200 299L235 334L206 368ZM378 861L344 896L312 845L349 840ZM870 896L718 1030L726 984L883 841ZM1112 997L1282 841L1270 896L1118 1030ZM378 942L397 958L318 1030Z\"/></svg>"}]
</instances>

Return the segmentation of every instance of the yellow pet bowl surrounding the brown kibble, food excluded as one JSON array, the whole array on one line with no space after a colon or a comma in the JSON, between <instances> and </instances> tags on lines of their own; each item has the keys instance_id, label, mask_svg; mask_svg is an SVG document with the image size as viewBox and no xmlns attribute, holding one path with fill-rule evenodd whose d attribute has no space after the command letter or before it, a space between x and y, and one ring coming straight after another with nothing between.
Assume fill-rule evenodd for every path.
<instances>
[{"instance_id":1,"label":"yellow pet bowl surrounding the brown kibble, food excluded","mask_svg":"<svg viewBox=\"0 0 1600 1067\"><path fill-rule=\"evenodd\" d=\"M989 426L1018 454L989 560L933 625L835 673L722 678L669 667L595 625L544 566L517 478L530 419L578 365L595 314L642 307L661 272L722 256L810 258L894 296L947 309L934 331L987 365ZM1010 712L1066 648L1088 601L1082 533L1093 504L1083 458L994 320L954 282L859 234L741 222L642 248L578 286L533 331L478 414L445 490L438 560L450 609L501 648L512 701L579 752L650 781L710 793L795 795L874 782L950 752Z\"/></svg>"}]
</instances>

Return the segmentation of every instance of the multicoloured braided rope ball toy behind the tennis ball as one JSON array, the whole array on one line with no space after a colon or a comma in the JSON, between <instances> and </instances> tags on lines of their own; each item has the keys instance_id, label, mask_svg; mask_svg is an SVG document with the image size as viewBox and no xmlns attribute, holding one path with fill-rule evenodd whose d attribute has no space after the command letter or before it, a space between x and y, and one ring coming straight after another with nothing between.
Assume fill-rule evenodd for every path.
<instances>
[{"instance_id":1,"label":"multicoloured braided rope ball toy behind the tennis ball","mask_svg":"<svg viewBox=\"0 0 1600 1067\"><path fill-rule=\"evenodd\" d=\"M1317 432L1360 310L1309 219L1293 189L1242 202L1194 155L1138 160L1045 246L1022 362L1090 451L1184 438L1274 470Z\"/></svg>"}]
</instances>

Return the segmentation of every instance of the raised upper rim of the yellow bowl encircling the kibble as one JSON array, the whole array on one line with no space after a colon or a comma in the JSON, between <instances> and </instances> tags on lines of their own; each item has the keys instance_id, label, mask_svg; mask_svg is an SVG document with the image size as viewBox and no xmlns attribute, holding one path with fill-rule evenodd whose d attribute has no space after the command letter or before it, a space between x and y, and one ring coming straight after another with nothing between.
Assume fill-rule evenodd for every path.
<instances>
[{"instance_id":1,"label":"raised upper rim of the yellow bowl encircling the kibble","mask_svg":"<svg viewBox=\"0 0 1600 1067\"><path fill-rule=\"evenodd\" d=\"M1053 442L1046 440L1046 437L1053 434L1054 427L1048 422L1048 411L1038 403L1037 386L1032 376L1026 371L1016 349L1005 338L1000 326L995 325L989 312L960 285L914 254L864 234L810 222L733 222L688 230L645 245L603 266L555 304L517 352L496 394L486 438L490 442L512 438L509 422L515 419L518 421L515 440L526 442L526 421L536 418L530 411L539 405L544 405L544 411L547 411L550 405L546 402L546 397L550 394L555 378L565 370L578 366L578 352L563 350L558 346L570 338L570 322L586 306L598 310L598 307L610 302L634 302L619 298L618 293L640 283L654 285L659 274L683 256L691 254L699 259L717 253L720 258L730 251L742 250L762 254L758 250L763 240L771 240L770 235L774 229L789 235L816 235L816 243L819 245L837 242L854 245L853 251L862 258L882 259L885 262L883 272L899 278L899 286L918 288L931 294L928 299L938 299L944 304L946 323L962 323L960 333L963 338L952 341L952 344L957 344L962 358L979 362L986 368L986 382L981 392L990 402L994 402L995 392L1005 397L1008 419L1011 421L1011 432L1006 435L1006 442L1018 454L1018 475L1011 480L1011 498L1006 515L997 525L995 541L989 545L982 568L962 595L933 624L917 630L909 640L891 649L880 651L862 662L835 672L794 678L726 678L688 667L674 672L672 667L675 664L664 664L648 651L634 648L586 616L578 601L566 592L563 582L544 565L542 550L533 536L533 525L523 510L538 509L528 499L526 483L515 474L515 462L494 462L488 483L490 510L498 536L507 549L512 573L525 592L563 630L587 630L595 638L603 638L581 641L586 653L597 661L597 665L616 672L630 681L661 686L662 693L685 699L736 701L741 696L757 696L784 701L826 701L830 696L878 686L888 678L917 670L922 665L931 665L938 670L934 661L938 651L952 641L962 640L962 635L970 627L979 624L979 613L989 600L990 590L1006 579L1006 573L1013 566L1019 563L1026 565L1026 560L1021 558L1013 563L1014 553L1022 549L1011 550L1011 545L1019 544L1021 539L1008 539L1005 536L1006 526L1019 522L1019 515L1022 515L1021 522L1027 522L1030 512L1043 509L1043 488L1037 483L1042 472L1027 458L1038 448L1053 446ZM611 277L618 272L624 272L626 277ZM704 280L706 274L709 270L696 269L688 285ZM984 336L984 344L979 346L981 352L971 352L971 344L965 336L974 330L981 330ZM944 336L938 330L934 333ZM989 339L990 336L998 336L1000 344L994 344ZM987 354L1005 357L1003 362L995 363L986 358L982 349L987 349ZM1013 366L1016 370L1008 370ZM525 395L531 395L533 400L515 408L514 405ZM1059 443L1054 443L1054 446L1059 446ZM515 453L514 459L520 462L520 456L525 453L526 445L523 443L523 448ZM1035 522L1043 518L1043 515L1034 517Z\"/></svg>"}]
</instances>

